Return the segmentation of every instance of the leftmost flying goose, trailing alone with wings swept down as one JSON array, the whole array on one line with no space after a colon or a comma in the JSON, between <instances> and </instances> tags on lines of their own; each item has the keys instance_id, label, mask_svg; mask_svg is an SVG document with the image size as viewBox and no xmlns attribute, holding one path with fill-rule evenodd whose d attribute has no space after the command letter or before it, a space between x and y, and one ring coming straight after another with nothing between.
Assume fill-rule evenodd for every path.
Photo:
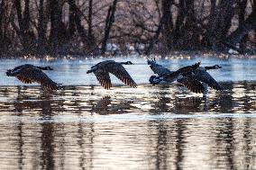
<instances>
[{"instance_id":1,"label":"leftmost flying goose, trailing alone with wings swept down","mask_svg":"<svg viewBox=\"0 0 256 170\"><path fill-rule=\"evenodd\" d=\"M30 64L25 64L14 69L8 69L6 76L15 76L25 84L32 84L33 82L41 84L48 90L58 90L59 85L53 82L49 76L44 74L41 70L53 70L51 67L37 67Z\"/></svg>"}]
</instances>

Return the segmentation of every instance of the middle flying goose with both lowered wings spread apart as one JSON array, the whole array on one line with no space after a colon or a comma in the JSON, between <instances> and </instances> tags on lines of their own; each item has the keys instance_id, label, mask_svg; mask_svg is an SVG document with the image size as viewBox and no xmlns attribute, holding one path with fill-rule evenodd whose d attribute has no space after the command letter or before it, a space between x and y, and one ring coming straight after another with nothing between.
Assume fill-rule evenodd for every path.
<instances>
[{"instance_id":1,"label":"middle flying goose with both lowered wings spread apart","mask_svg":"<svg viewBox=\"0 0 256 170\"><path fill-rule=\"evenodd\" d=\"M131 61L115 62L114 60L106 60L91 67L91 69L87 71L87 74L93 72L96 75L100 85L102 85L105 89L110 89L110 87L112 87L109 73L116 76L125 85L130 85L131 87L136 88L137 85L133 81L133 78L122 65L133 65L133 63Z\"/></svg>"}]
</instances>

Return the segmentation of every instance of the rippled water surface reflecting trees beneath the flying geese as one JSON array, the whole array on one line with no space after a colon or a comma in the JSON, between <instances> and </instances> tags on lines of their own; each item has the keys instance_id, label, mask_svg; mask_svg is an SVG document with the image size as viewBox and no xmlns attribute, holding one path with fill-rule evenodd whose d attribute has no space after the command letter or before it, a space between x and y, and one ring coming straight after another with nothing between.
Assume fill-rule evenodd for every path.
<instances>
[{"instance_id":1,"label":"rippled water surface reflecting trees beneath the flying geese","mask_svg":"<svg viewBox=\"0 0 256 170\"><path fill-rule=\"evenodd\" d=\"M221 63L211 74L227 90L206 97L148 85L144 59L129 59L138 88L115 80L109 91L85 74L100 59L2 62L0 169L256 169L255 59L160 60ZM65 88L46 93L5 76L21 62L57 68L47 74Z\"/></svg>"}]
</instances>

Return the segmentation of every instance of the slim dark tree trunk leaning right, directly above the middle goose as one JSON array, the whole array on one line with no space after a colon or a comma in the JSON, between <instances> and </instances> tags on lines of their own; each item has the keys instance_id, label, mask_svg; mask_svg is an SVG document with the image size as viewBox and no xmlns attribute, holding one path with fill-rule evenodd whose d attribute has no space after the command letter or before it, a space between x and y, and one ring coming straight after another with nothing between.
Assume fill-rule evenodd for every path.
<instances>
[{"instance_id":1,"label":"slim dark tree trunk leaning right, directly above the middle goose","mask_svg":"<svg viewBox=\"0 0 256 170\"><path fill-rule=\"evenodd\" d=\"M109 38L109 33L111 31L111 27L114 23L114 13L116 9L117 0L114 0L113 4L109 6L108 13L106 15L105 19L105 34L104 39L102 41L102 49L101 49L101 55L105 55L105 49L106 49L106 42Z\"/></svg>"}]
</instances>

